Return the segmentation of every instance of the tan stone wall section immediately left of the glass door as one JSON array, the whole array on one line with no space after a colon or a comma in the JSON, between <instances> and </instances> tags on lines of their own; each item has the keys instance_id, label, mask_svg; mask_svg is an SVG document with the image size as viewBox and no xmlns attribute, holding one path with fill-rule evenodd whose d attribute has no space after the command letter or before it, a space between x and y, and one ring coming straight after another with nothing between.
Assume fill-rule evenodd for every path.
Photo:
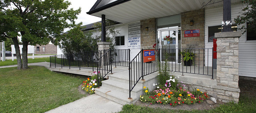
<instances>
[{"instance_id":1,"label":"tan stone wall section immediately left of the glass door","mask_svg":"<svg viewBox=\"0 0 256 113\"><path fill-rule=\"evenodd\" d=\"M148 27L148 29L146 29ZM141 49L152 49L156 43L156 19L141 20Z\"/></svg>"}]
</instances>

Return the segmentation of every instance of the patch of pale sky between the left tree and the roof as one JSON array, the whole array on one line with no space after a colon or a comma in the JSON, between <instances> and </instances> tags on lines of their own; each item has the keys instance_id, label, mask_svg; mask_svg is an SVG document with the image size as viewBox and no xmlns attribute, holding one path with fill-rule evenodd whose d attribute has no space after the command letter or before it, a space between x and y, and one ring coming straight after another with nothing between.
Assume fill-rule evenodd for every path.
<instances>
[{"instance_id":1,"label":"patch of pale sky between the left tree and the roof","mask_svg":"<svg viewBox=\"0 0 256 113\"><path fill-rule=\"evenodd\" d=\"M97 0L67 0L71 2L69 8L74 8L74 10L81 7L81 13L78 15L78 19L76 23L82 22L82 25L87 25L90 23L95 23L97 21L101 21L101 18L95 17L92 15L87 15L86 13L91 9L91 7L95 4ZM68 29L65 29L65 31Z\"/></svg>"}]
</instances>

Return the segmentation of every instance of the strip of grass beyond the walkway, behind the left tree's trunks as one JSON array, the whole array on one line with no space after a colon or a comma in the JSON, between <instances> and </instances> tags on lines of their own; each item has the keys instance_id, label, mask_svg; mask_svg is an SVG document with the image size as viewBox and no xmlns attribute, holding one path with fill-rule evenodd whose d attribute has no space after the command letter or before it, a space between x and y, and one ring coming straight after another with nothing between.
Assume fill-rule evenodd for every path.
<instances>
[{"instance_id":1,"label":"strip of grass beyond the walkway, behind the left tree's trunks","mask_svg":"<svg viewBox=\"0 0 256 113\"><path fill-rule=\"evenodd\" d=\"M41 63L41 62L50 62L50 57L28 59L28 63ZM0 66L5 66L5 65L17 65L17 59L14 59L14 61L11 61L11 60L0 61Z\"/></svg>"}]
</instances>

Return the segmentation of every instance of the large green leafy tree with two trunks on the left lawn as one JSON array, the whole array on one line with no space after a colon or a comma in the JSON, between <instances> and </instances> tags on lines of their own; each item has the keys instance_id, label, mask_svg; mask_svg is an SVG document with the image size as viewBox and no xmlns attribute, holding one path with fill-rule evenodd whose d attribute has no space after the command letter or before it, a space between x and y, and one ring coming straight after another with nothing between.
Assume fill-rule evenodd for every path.
<instances>
[{"instance_id":1,"label":"large green leafy tree with two trunks on the left lawn","mask_svg":"<svg viewBox=\"0 0 256 113\"><path fill-rule=\"evenodd\" d=\"M17 69L28 68L28 44L57 44L64 29L74 27L81 8L69 5L64 0L0 0L0 40L13 40ZM17 36L22 37L22 60Z\"/></svg>"}]
</instances>

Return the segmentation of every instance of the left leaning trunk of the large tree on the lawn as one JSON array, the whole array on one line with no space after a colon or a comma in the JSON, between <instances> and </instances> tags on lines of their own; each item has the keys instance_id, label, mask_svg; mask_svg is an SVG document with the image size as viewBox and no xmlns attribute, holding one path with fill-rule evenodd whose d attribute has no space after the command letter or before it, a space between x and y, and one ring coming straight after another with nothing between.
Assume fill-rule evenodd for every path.
<instances>
[{"instance_id":1,"label":"left leaning trunk of the large tree on the lawn","mask_svg":"<svg viewBox=\"0 0 256 113\"><path fill-rule=\"evenodd\" d=\"M22 69L22 59L20 56L20 46L19 46L19 41L17 37L11 38L14 43L15 47L15 52L16 52L16 58L17 58L17 69Z\"/></svg>"}]
</instances>

